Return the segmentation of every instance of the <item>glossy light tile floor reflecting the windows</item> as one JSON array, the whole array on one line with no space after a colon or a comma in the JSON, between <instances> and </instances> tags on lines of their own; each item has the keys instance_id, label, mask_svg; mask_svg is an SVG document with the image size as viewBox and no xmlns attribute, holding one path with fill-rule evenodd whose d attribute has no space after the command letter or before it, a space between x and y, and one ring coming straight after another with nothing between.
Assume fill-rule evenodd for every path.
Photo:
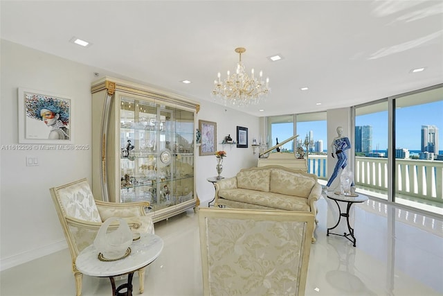
<instances>
[{"instance_id":1,"label":"glossy light tile floor reflecting the windows","mask_svg":"<svg viewBox=\"0 0 443 296\"><path fill-rule=\"evenodd\" d=\"M207 203L206 203L207 204ZM326 236L335 204L318 201L306 295L443 295L442 220L369 200L354 209L356 247ZM165 247L150 265L143 295L202 295L197 215L187 211L156 223ZM0 295L75 295L68 250L0 272ZM122 284L118 281L117 284ZM134 295L138 278L134 277ZM111 295L109 279L83 277L82 295Z\"/></svg>"}]
</instances>

